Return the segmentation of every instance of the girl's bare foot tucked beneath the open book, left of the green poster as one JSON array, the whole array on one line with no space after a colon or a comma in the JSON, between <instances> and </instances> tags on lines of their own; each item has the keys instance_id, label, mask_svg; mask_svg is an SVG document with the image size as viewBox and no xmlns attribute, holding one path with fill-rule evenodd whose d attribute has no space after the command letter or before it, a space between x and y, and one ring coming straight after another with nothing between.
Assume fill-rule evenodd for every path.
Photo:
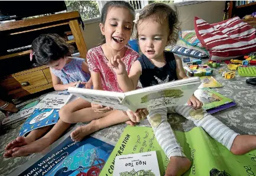
<instances>
[{"instance_id":1,"label":"girl's bare foot tucked beneath the open book, left of the green poster","mask_svg":"<svg viewBox=\"0 0 256 176\"><path fill-rule=\"evenodd\" d=\"M88 125L77 127L71 134L70 137L73 141L81 141L85 136L98 131L99 127L96 125L96 120L92 120Z\"/></svg>"}]
</instances>

